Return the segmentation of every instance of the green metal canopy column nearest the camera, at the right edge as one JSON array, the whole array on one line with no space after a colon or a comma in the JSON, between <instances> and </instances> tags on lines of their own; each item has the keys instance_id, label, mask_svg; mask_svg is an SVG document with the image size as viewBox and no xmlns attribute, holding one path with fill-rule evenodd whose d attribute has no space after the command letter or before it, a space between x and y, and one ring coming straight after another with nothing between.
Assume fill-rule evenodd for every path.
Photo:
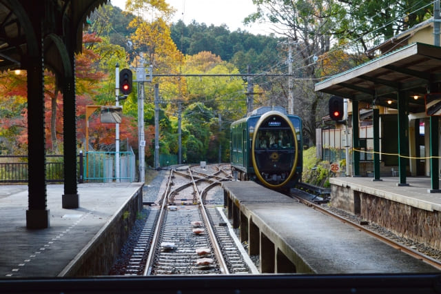
<instances>
[{"instance_id":1,"label":"green metal canopy column nearest the camera, at the right edge","mask_svg":"<svg viewBox=\"0 0 441 294\"><path fill-rule=\"evenodd\" d=\"M440 121L438 117L430 117L430 179L431 189L427 190L429 193L441 193L440 190Z\"/></svg>"}]
</instances>

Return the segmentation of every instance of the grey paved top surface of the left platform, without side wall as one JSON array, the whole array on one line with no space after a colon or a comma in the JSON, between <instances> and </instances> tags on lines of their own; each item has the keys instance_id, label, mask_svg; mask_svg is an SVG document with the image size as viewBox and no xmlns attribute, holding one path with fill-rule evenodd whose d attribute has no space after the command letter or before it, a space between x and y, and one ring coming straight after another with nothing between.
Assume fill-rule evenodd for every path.
<instances>
[{"instance_id":1,"label":"grey paved top surface of the left platform, without side wall","mask_svg":"<svg viewBox=\"0 0 441 294\"><path fill-rule=\"evenodd\" d=\"M26 228L28 186L0 186L0 279L63 276L141 183L79 184L79 208L61 207L63 185L47 186L50 227Z\"/></svg>"}]
</instances>

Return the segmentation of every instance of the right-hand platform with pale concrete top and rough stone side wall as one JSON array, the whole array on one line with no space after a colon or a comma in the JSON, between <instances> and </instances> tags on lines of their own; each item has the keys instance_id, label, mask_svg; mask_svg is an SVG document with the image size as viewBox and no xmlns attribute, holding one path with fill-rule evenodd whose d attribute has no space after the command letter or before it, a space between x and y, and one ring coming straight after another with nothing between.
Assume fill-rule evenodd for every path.
<instances>
[{"instance_id":1,"label":"right-hand platform with pale concrete top and rough stone side wall","mask_svg":"<svg viewBox=\"0 0 441 294\"><path fill-rule=\"evenodd\" d=\"M441 193L431 190L430 177L333 177L331 206L360 215L396 235L441 250ZM438 191L438 190L437 190Z\"/></svg>"}]
</instances>

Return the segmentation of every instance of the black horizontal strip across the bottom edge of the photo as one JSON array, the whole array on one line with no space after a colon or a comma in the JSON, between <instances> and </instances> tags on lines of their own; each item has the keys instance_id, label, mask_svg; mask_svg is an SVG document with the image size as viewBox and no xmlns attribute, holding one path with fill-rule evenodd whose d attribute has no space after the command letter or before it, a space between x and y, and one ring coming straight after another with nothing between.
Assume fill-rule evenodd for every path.
<instances>
[{"instance_id":1,"label":"black horizontal strip across the bottom edge of the photo","mask_svg":"<svg viewBox=\"0 0 441 294\"><path fill-rule=\"evenodd\" d=\"M440 293L439 275L93 277L0 282L3 293Z\"/></svg>"}]
</instances>

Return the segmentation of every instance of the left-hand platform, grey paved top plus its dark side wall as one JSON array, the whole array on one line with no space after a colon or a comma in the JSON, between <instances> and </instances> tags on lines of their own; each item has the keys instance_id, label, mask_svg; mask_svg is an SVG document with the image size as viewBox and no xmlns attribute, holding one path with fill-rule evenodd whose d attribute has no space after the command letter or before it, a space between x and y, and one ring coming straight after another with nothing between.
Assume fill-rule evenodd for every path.
<instances>
[{"instance_id":1,"label":"left-hand platform, grey paved top plus its dark side wall","mask_svg":"<svg viewBox=\"0 0 441 294\"><path fill-rule=\"evenodd\" d=\"M0 279L103 275L143 207L142 183L79 184L79 208L47 186L50 227L26 228L28 186L0 186ZM108 271L108 270L107 270Z\"/></svg>"}]
</instances>

